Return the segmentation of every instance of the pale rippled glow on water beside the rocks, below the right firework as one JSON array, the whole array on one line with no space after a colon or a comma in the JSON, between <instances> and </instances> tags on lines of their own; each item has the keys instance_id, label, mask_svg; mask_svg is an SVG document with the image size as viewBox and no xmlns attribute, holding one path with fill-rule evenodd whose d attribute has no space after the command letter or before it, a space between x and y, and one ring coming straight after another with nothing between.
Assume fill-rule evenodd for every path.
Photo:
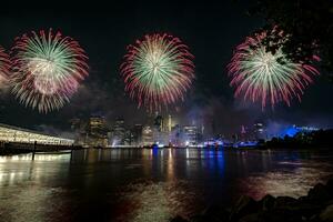
<instances>
[{"instance_id":1,"label":"pale rippled glow on water beside the rocks, below the right firework","mask_svg":"<svg viewBox=\"0 0 333 222\"><path fill-rule=\"evenodd\" d=\"M240 180L243 193L254 199L261 199L265 194L274 196L287 195L300 198L316 183L325 183L333 176L332 164L311 162L279 162L282 169L265 173L254 173ZM293 170L284 167L294 167Z\"/></svg>"}]
</instances>

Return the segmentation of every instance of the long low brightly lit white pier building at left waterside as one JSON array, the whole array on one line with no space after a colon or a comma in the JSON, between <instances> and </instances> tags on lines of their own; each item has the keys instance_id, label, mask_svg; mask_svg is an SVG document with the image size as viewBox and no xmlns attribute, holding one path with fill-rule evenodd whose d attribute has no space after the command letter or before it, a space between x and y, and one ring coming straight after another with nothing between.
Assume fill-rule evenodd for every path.
<instances>
[{"instance_id":1,"label":"long low brightly lit white pier building at left waterside","mask_svg":"<svg viewBox=\"0 0 333 222\"><path fill-rule=\"evenodd\" d=\"M0 141L1 142L20 142L52 145L72 145L74 140L48 135L41 132L21 129L12 125L0 123Z\"/></svg>"}]
</instances>

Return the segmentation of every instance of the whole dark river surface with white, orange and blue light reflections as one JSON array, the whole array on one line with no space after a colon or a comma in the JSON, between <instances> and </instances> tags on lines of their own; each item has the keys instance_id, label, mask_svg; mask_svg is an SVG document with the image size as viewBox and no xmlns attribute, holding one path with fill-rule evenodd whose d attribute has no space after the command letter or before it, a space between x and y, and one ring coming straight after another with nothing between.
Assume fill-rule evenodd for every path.
<instances>
[{"instance_id":1,"label":"whole dark river surface with white, orange and blue light reflections","mask_svg":"<svg viewBox=\"0 0 333 222\"><path fill-rule=\"evenodd\" d=\"M0 221L168 221L241 194L304 195L332 153L82 150L0 157Z\"/></svg>"}]
</instances>

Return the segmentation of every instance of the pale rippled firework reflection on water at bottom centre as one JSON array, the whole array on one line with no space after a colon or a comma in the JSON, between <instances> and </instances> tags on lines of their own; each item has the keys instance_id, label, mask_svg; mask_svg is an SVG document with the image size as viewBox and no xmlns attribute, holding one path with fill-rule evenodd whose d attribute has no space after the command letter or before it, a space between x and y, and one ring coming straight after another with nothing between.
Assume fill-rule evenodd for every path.
<instances>
[{"instance_id":1,"label":"pale rippled firework reflection on water at bottom centre","mask_svg":"<svg viewBox=\"0 0 333 222\"><path fill-rule=\"evenodd\" d=\"M188 182L142 182L127 185L118 193L121 213L118 221L169 221L175 215L189 216L200 208L193 203L202 200ZM202 202L203 203L203 202Z\"/></svg>"}]
</instances>

